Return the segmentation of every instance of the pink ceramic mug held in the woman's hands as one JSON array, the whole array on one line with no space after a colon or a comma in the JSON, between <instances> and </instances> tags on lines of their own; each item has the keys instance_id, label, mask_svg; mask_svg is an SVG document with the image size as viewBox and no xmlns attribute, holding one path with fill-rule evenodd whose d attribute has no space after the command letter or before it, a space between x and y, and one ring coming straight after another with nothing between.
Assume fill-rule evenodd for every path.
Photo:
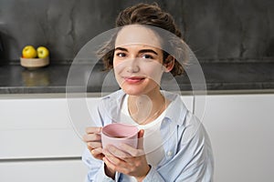
<instances>
[{"instance_id":1,"label":"pink ceramic mug held in the woman's hands","mask_svg":"<svg viewBox=\"0 0 274 182\"><path fill-rule=\"evenodd\" d=\"M127 144L137 148L138 132L138 127L121 123L103 126L101 130L102 147L104 148L108 145L119 147L121 144Z\"/></svg>"}]
</instances>

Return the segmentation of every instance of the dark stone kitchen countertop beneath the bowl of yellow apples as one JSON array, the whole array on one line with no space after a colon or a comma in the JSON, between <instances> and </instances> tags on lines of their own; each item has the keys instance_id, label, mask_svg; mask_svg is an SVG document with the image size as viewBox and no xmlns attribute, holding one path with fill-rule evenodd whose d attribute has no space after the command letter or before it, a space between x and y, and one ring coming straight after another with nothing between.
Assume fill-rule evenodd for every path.
<instances>
[{"instance_id":1,"label":"dark stone kitchen countertop beneath the bowl of yellow apples","mask_svg":"<svg viewBox=\"0 0 274 182\"><path fill-rule=\"evenodd\" d=\"M208 91L260 90L272 92L274 89L274 63L204 63L201 66ZM66 93L69 67L69 65L50 65L28 70L20 65L0 66L0 94ZM87 68L87 66L79 67ZM96 67L94 70L101 69L100 66ZM89 93L100 92L106 73L92 72L90 76L87 70L84 70L87 72L85 74L81 69L80 72L92 79L85 78L86 81L89 80L88 86L75 89L75 92L83 90L88 90ZM177 79L177 82L181 91L192 90L187 77L181 77Z\"/></svg>"}]
</instances>

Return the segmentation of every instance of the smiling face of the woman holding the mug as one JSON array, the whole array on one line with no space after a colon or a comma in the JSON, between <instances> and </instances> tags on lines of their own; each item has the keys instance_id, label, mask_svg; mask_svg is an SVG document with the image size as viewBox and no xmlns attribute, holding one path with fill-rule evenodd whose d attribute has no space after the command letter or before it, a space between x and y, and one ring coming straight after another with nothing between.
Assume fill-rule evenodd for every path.
<instances>
[{"instance_id":1,"label":"smiling face of the woman holding the mug","mask_svg":"<svg viewBox=\"0 0 274 182\"><path fill-rule=\"evenodd\" d=\"M113 69L121 89L133 96L160 89L163 51L158 35L142 25L123 27L117 35Z\"/></svg>"}]
</instances>

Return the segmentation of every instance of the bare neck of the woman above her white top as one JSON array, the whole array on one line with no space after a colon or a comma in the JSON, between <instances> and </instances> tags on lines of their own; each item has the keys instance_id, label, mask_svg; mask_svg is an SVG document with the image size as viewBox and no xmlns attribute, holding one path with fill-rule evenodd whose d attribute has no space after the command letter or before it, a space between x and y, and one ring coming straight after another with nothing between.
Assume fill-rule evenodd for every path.
<instances>
[{"instance_id":1,"label":"bare neck of the woman above her white top","mask_svg":"<svg viewBox=\"0 0 274 182\"><path fill-rule=\"evenodd\" d=\"M132 119L140 125L152 122L163 113L167 105L160 90L152 95L129 96L128 100Z\"/></svg>"}]
</instances>

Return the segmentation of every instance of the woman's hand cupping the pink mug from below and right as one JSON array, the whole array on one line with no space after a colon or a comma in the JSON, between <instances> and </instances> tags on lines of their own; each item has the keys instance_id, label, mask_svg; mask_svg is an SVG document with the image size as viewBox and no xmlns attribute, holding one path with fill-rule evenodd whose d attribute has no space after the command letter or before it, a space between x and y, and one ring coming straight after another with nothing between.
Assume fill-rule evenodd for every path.
<instances>
[{"instance_id":1,"label":"woman's hand cupping the pink mug from below and right","mask_svg":"<svg viewBox=\"0 0 274 182\"><path fill-rule=\"evenodd\" d=\"M146 157L143 152L142 142L143 130L139 132L138 149L122 144L120 148L107 146L103 149L103 161L111 171L118 171L122 174L135 177L142 181L150 171ZM126 151L126 152L125 152Z\"/></svg>"}]
</instances>

